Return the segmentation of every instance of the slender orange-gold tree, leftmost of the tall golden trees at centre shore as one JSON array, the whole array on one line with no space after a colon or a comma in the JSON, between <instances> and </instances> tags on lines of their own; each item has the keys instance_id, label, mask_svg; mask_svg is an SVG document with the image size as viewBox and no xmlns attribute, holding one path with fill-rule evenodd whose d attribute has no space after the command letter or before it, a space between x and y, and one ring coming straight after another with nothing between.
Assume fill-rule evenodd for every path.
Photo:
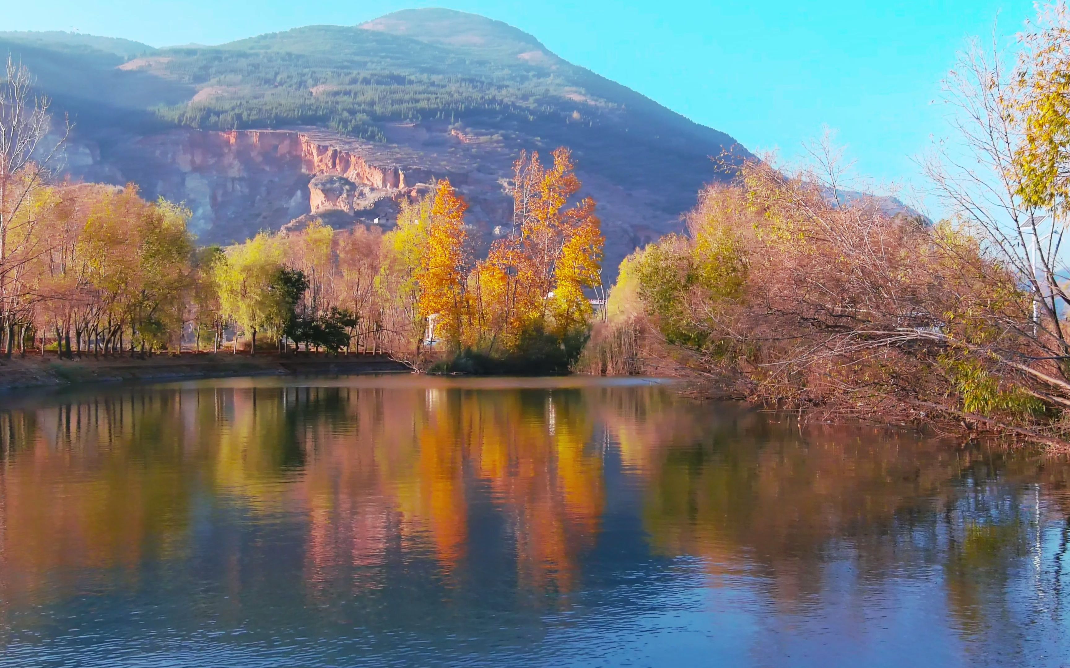
<instances>
[{"instance_id":1,"label":"slender orange-gold tree, leftmost of the tall golden trees at centre shore","mask_svg":"<svg viewBox=\"0 0 1070 668\"><path fill-rule=\"evenodd\" d=\"M467 311L465 276L468 273L468 232L464 211L468 203L448 180L435 185L431 205L427 247L422 258L419 313L434 319L438 338L450 348L461 344Z\"/></svg>"}]
</instances>

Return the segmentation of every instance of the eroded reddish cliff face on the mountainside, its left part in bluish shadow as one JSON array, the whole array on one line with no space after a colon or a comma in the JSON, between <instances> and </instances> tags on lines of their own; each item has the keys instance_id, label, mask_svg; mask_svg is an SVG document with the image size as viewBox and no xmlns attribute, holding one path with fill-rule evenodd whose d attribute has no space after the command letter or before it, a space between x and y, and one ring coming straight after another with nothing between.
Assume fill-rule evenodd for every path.
<instances>
[{"instance_id":1,"label":"eroded reddish cliff face on the mountainside, its left part in bluish shadow","mask_svg":"<svg viewBox=\"0 0 1070 668\"><path fill-rule=\"evenodd\" d=\"M108 144L75 138L65 167L75 178L134 183L148 198L184 202L201 243L227 244L308 214L350 215L332 217L335 224L384 223L413 193L413 177L430 177L357 151L300 130L175 129ZM310 183L317 176L334 180Z\"/></svg>"}]
</instances>

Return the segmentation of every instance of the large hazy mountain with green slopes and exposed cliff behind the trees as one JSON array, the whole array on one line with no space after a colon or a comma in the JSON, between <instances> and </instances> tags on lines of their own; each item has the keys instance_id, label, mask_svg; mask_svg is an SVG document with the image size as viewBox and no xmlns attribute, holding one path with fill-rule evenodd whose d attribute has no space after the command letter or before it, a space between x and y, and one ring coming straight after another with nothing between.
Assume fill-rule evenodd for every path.
<instances>
[{"instance_id":1,"label":"large hazy mountain with green slopes and exposed cliff behind the trees","mask_svg":"<svg viewBox=\"0 0 1070 668\"><path fill-rule=\"evenodd\" d=\"M388 227L401 200L449 177L486 245L510 219L520 151L566 145L598 201L612 275L637 245L679 228L718 177L712 158L749 155L532 35L449 10L214 47L2 33L2 50L75 123L73 177L185 201L204 243L308 215Z\"/></svg>"}]
</instances>

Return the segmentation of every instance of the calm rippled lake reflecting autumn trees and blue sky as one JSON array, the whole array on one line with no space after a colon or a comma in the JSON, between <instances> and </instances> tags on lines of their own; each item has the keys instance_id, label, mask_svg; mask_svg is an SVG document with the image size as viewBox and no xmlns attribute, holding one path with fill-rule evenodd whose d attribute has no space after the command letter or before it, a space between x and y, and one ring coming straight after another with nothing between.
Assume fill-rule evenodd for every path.
<instances>
[{"instance_id":1,"label":"calm rippled lake reflecting autumn trees and blue sky","mask_svg":"<svg viewBox=\"0 0 1070 668\"><path fill-rule=\"evenodd\" d=\"M1070 464L640 379L0 395L0 666L1067 666Z\"/></svg>"}]
</instances>

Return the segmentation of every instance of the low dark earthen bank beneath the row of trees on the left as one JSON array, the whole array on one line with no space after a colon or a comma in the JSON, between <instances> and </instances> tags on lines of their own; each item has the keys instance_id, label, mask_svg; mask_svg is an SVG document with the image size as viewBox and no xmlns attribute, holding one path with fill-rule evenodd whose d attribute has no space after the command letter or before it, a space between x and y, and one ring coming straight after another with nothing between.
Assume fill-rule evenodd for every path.
<instances>
[{"instance_id":1,"label":"low dark earthen bank beneath the row of trees on the left","mask_svg":"<svg viewBox=\"0 0 1070 668\"><path fill-rule=\"evenodd\" d=\"M409 371L381 355L232 355L186 353L146 359L83 357L57 359L28 355L0 360L0 392L22 388L70 387L91 383L182 380L250 375L358 374Z\"/></svg>"}]
</instances>

